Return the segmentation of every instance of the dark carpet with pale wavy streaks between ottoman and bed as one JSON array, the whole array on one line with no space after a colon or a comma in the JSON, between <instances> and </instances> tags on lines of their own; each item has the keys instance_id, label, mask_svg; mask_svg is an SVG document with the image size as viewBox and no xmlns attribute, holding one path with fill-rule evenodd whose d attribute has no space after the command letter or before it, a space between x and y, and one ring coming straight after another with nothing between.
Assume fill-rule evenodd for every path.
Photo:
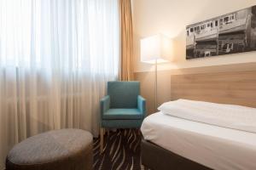
<instances>
[{"instance_id":1,"label":"dark carpet with pale wavy streaks between ottoman and bed","mask_svg":"<svg viewBox=\"0 0 256 170\"><path fill-rule=\"evenodd\" d=\"M141 164L141 133L137 129L119 129L105 135L103 153L100 154L100 139L94 139L95 170L143 170Z\"/></svg>"}]
</instances>

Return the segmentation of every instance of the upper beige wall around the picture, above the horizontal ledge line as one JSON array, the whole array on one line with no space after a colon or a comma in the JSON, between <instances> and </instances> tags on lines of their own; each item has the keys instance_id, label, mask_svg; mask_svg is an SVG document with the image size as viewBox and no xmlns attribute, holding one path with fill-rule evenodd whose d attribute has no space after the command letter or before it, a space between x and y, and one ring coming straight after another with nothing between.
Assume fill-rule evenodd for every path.
<instances>
[{"instance_id":1,"label":"upper beige wall around the picture, above the horizontal ledge line","mask_svg":"<svg viewBox=\"0 0 256 170\"><path fill-rule=\"evenodd\" d=\"M160 65L160 70L256 62L255 52L185 59L186 26L256 5L255 0L133 0L132 4L135 72L153 69L140 62L139 40L158 33L173 39L173 62Z\"/></svg>"}]
</instances>

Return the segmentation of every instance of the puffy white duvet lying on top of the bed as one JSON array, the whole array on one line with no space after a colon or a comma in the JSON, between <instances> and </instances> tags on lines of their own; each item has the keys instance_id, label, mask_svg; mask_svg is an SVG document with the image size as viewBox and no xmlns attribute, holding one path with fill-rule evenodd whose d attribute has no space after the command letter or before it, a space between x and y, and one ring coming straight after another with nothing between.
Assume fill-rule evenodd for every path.
<instances>
[{"instance_id":1,"label":"puffy white duvet lying on top of the bed","mask_svg":"<svg viewBox=\"0 0 256 170\"><path fill-rule=\"evenodd\" d=\"M177 99L160 105L159 111L195 122L256 133L256 109L188 99Z\"/></svg>"}]
</instances>

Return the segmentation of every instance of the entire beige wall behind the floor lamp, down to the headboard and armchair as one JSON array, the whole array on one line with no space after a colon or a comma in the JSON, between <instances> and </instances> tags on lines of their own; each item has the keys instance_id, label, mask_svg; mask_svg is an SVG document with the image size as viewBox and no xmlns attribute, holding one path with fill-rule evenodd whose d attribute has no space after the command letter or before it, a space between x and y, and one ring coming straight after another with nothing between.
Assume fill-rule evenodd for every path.
<instances>
[{"instance_id":1,"label":"entire beige wall behind the floor lamp, down to the headboard and armchair","mask_svg":"<svg viewBox=\"0 0 256 170\"><path fill-rule=\"evenodd\" d=\"M154 112L154 66L140 62L139 41L143 37L162 33L173 40L172 63L159 65L159 105L172 99L172 74L242 71L256 67L256 52L185 59L186 26L256 5L255 0L133 0L132 5L135 78L141 82L148 114Z\"/></svg>"}]
</instances>

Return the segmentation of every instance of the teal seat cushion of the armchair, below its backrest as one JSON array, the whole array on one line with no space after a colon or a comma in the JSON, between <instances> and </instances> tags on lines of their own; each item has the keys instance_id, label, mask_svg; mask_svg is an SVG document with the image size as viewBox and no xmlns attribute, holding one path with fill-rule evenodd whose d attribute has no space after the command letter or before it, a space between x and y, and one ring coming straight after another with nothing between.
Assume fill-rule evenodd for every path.
<instances>
[{"instance_id":1,"label":"teal seat cushion of the armchair, below its backrest","mask_svg":"<svg viewBox=\"0 0 256 170\"><path fill-rule=\"evenodd\" d=\"M102 119L143 119L143 113L141 113L138 109L109 109L108 111L102 114Z\"/></svg>"}]
</instances>

